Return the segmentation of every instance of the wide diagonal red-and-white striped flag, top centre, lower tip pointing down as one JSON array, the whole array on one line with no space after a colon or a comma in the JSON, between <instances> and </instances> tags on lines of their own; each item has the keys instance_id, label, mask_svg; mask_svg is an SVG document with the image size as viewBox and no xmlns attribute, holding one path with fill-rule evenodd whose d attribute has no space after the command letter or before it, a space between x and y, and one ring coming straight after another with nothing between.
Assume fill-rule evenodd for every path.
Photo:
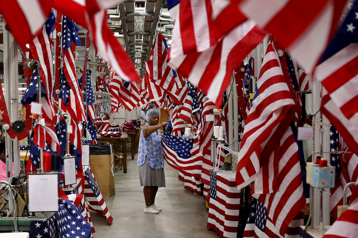
<instances>
[{"instance_id":1,"label":"wide diagonal red-and-white striped flag, top centre, lower tip pointing down","mask_svg":"<svg viewBox=\"0 0 358 238\"><path fill-rule=\"evenodd\" d=\"M247 20L207 50L174 57L173 43L178 37L174 32L168 64L187 77L191 84L203 91L219 108L222 93L230 84L233 70L264 36L265 33L253 21Z\"/></svg>"}]
</instances>

